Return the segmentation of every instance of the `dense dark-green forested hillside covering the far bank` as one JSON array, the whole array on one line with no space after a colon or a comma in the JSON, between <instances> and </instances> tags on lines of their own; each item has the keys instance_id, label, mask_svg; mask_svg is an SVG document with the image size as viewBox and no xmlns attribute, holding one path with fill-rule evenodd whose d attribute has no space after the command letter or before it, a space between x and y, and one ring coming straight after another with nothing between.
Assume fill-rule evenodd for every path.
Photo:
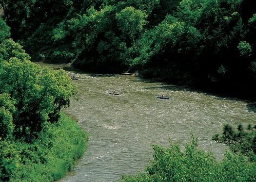
<instances>
[{"instance_id":1,"label":"dense dark-green forested hillside covering the far bank","mask_svg":"<svg viewBox=\"0 0 256 182\"><path fill-rule=\"evenodd\" d=\"M32 61L138 71L256 99L252 0L0 0Z\"/></svg>"}]
</instances>

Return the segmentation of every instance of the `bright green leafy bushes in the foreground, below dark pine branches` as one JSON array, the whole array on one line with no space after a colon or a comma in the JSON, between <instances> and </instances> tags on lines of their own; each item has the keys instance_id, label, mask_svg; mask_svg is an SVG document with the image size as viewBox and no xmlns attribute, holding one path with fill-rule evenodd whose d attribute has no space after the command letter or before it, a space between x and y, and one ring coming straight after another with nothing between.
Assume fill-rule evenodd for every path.
<instances>
[{"instance_id":1,"label":"bright green leafy bushes in the foreground, below dark pine branches","mask_svg":"<svg viewBox=\"0 0 256 182\"><path fill-rule=\"evenodd\" d=\"M122 175L122 182L227 182L255 181L256 163L245 157L227 153L217 162L213 154L198 149L197 138L186 144L182 151L171 142L169 148L153 145L154 160L145 173Z\"/></svg>"}]
</instances>

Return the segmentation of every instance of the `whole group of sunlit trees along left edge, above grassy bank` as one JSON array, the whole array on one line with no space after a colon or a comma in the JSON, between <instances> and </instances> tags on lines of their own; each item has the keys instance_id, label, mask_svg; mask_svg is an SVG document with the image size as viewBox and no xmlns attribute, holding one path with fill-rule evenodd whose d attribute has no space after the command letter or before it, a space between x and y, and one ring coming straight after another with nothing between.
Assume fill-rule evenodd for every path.
<instances>
[{"instance_id":1,"label":"whole group of sunlit trees along left edge, above grassy bank","mask_svg":"<svg viewBox=\"0 0 256 182\"><path fill-rule=\"evenodd\" d=\"M9 28L0 18L0 137L32 136L57 122L60 109L69 106L76 85L64 70L30 62L20 44L8 39Z\"/></svg>"}]
</instances>

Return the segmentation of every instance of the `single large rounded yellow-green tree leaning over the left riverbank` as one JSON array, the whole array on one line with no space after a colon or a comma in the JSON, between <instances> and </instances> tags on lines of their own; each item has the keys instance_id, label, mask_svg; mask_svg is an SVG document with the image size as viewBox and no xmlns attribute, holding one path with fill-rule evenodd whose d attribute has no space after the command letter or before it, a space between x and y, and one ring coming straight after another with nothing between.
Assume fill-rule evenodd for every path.
<instances>
[{"instance_id":1,"label":"single large rounded yellow-green tree leaning over the left riverbank","mask_svg":"<svg viewBox=\"0 0 256 182\"><path fill-rule=\"evenodd\" d=\"M37 136L48 122L57 122L60 109L69 106L76 86L64 70L41 67L11 57L0 66L0 94L8 93L17 108L15 135Z\"/></svg>"}]
</instances>

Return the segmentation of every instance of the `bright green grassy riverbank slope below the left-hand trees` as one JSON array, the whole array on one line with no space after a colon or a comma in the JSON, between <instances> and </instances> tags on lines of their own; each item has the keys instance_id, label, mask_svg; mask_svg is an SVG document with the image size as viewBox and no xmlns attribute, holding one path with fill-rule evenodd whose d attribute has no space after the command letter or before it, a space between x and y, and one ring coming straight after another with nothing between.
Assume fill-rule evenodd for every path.
<instances>
[{"instance_id":1,"label":"bright green grassy riverbank slope below the left-hand trees","mask_svg":"<svg viewBox=\"0 0 256 182\"><path fill-rule=\"evenodd\" d=\"M8 150L13 150L20 158L19 167L11 181L59 180L85 152L88 138L88 133L74 119L62 113L59 122L41 132L33 144L15 142L8 145Z\"/></svg>"}]
</instances>

